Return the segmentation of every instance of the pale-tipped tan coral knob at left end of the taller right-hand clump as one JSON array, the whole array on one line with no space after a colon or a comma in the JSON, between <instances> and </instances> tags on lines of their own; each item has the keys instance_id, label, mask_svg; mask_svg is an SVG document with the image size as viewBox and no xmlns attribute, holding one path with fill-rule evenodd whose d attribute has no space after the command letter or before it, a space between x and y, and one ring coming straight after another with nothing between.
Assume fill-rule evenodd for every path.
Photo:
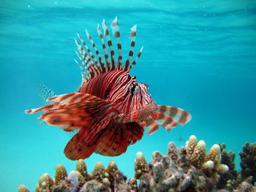
<instances>
[{"instance_id":1,"label":"pale-tipped tan coral knob at left end of the taller right-hand clump","mask_svg":"<svg viewBox=\"0 0 256 192\"><path fill-rule=\"evenodd\" d=\"M135 159L135 177L140 178L141 174L149 172L148 163L141 152L138 152Z\"/></svg>"}]
</instances>

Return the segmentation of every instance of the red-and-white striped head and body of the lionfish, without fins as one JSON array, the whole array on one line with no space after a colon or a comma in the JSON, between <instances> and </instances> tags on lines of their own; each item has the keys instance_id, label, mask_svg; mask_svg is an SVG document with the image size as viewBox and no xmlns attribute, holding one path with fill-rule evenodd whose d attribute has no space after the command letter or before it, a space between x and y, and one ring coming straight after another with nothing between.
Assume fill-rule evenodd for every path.
<instances>
[{"instance_id":1,"label":"red-and-white striped head and body of the lionfish, without fins","mask_svg":"<svg viewBox=\"0 0 256 192\"><path fill-rule=\"evenodd\" d=\"M151 111L145 111L147 116L153 115L157 110L157 105L148 94L148 86L138 83L135 77L124 70L99 74L83 83L78 93L89 93L109 101L115 108L111 118L118 123L134 121L131 119L132 112L140 111L141 113L143 108L148 109L151 106Z\"/></svg>"}]
</instances>

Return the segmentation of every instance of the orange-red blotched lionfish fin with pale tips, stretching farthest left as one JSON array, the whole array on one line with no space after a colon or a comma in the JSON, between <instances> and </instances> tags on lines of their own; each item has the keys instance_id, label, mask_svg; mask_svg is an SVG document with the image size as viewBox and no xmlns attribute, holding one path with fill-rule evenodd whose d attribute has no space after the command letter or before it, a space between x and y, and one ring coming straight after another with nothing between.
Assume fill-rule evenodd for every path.
<instances>
[{"instance_id":1,"label":"orange-red blotched lionfish fin with pale tips, stretching farthest left","mask_svg":"<svg viewBox=\"0 0 256 192\"><path fill-rule=\"evenodd\" d=\"M111 112L108 101L92 96L88 93L69 93L48 99L52 104L37 109L26 110L33 114L46 111L39 119L64 130L73 131L80 127L87 127L102 120Z\"/></svg>"}]
</instances>

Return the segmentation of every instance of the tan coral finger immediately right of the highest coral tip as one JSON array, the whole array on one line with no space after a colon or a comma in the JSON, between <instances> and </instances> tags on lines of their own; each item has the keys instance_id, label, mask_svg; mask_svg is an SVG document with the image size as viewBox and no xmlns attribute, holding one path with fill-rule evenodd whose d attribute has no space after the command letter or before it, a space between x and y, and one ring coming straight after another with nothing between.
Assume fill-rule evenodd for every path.
<instances>
[{"instance_id":1,"label":"tan coral finger immediately right of the highest coral tip","mask_svg":"<svg viewBox=\"0 0 256 192\"><path fill-rule=\"evenodd\" d=\"M200 169L206 157L206 142L200 140L191 155L192 164Z\"/></svg>"}]
</instances>

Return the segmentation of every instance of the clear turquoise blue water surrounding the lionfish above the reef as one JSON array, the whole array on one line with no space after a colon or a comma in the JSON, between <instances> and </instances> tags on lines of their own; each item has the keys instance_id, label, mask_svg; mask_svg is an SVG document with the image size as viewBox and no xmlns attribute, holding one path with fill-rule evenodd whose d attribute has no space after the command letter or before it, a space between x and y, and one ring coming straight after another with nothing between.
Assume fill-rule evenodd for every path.
<instances>
[{"instance_id":1,"label":"clear turquoise blue water surrounding the lionfish above the reef","mask_svg":"<svg viewBox=\"0 0 256 192\"><path fill-rule=\"evenodd\" d=\"M167 143L185 145L191 134L207 147L225 142L236 153L246 141L256 141L256 2L227 1L1 1L0 4L0 189L16 191L25 184L34 190L39 176L54 176L57 164L68 172L75 161L63 150L70 137L54 126L40 125L39 115L24 110L42 106L38 84L58 94L80 85L76 33L118 17L124 58L129 28L138 25L135 50L143 54L131 74L150 85L157 104L181 107L192 121L170 133L160 128L123 155L91 155L89 172L97 161L113 159L128 177L134 174L136 152L166 152ZM84 38L86 39L86 38ZM101 51L102 53L102 51ZM180 141L184 139L184 141Z\"/></svg>"}]
</instances>

